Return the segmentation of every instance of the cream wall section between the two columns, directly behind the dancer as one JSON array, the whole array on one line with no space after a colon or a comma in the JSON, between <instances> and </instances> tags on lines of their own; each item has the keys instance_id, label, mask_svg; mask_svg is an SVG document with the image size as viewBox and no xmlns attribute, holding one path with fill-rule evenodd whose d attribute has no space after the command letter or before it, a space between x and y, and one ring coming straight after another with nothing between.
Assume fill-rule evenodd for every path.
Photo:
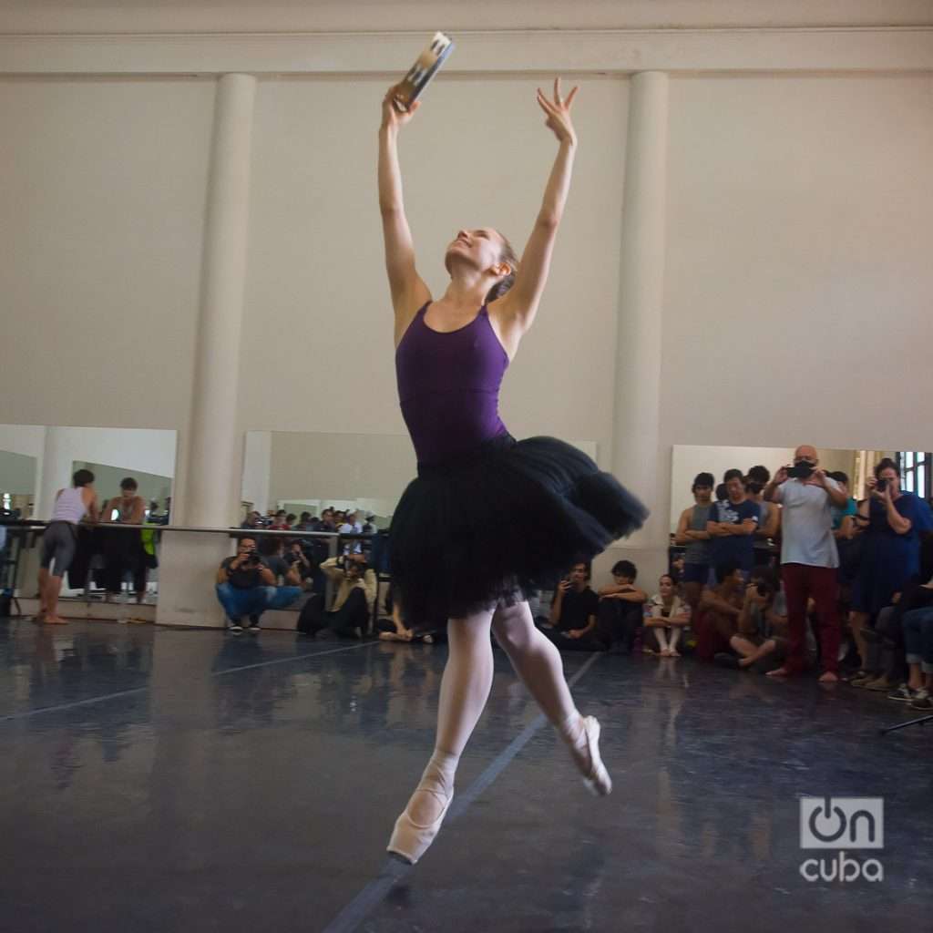
<instances>
[{"instance_id":1,"label":"cream wall section between the two columns, directly behind the dancer","mask_svg":"<svg viewBox=\"0 0 933 933\"><path fill-rule=\"evenodd\" d=\"M439 81L402 134L418 265L436 293L447 281L444 248L460 227L492 225L524 245L556 152L536 108L538 83ZM260 83L244 429L405 433L376 193L384 84ZM622 78L589 79L581 91L583 143L550 285L504 384L502 414L516 435L556 433L610 448L627 100ZM323 113L332 118L309 118Z\"/></svg>"}]
</instances>

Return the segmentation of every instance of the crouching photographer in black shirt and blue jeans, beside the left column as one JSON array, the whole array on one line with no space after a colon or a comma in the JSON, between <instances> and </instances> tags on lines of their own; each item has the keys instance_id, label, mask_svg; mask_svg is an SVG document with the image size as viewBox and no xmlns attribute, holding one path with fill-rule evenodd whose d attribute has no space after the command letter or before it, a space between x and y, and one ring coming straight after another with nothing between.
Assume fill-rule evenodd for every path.
<instances>
[{"instance_id":1,"label":"crouching photographer in black shirt and blue jeans, beside the left column","mask_svg":"<svg viewBox=\"0 0 933 933\"><path fill-rule=\"evenodd\" d=\"M243 633L244 616L249 619L249 633L258 634L259 617L266 609L284 608L301 592L294 567L285 573L285 586L275 584L275 574L259 553L256 539L241 538L236 554L220 564L216 579L217 599L227 613L231 634Z\"/></svg>"}]
</instances>

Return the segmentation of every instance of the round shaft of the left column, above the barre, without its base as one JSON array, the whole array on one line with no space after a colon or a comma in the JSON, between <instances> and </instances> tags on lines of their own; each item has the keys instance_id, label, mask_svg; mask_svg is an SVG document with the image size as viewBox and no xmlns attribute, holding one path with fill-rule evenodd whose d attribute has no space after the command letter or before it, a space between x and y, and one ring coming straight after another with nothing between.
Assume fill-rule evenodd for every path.
<instances>
[{"instance_id":1,"label":"round shaft of the left column, above the barre, without its base","mask_svg":"<svg viewBox=\"0 0 933 933\"><path fill-rule=\"evenodd\" d=\"M256 78L250 75L224 75L217 82L187 469L176 523L227 525L236 517L243 460L237 381L255 97Z\"/></svg>"}]
</instances>

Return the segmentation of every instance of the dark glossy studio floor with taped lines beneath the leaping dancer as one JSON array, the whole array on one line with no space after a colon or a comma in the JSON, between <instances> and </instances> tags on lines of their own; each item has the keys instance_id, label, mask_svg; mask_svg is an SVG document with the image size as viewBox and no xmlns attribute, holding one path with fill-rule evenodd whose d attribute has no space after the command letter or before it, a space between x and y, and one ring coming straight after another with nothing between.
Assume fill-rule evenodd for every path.
<instances>
[{"instance_id":1,"label":"dark glossy studio floor with taped lines beneath the leaping dancer","mask_svg":"<svg viewBox=\"0 0 933 933\"><path fill-rule=\"evenodd\" d=\"M0 926L27 931L929 929L933 728L883 695L568 655L590 797L496 651L448 824L383 849L443 646L0 620ZM516 741L517 740L517 741ZM801 796L883 797L884 880L808 882Z\"/></svg>"}]
</instances>

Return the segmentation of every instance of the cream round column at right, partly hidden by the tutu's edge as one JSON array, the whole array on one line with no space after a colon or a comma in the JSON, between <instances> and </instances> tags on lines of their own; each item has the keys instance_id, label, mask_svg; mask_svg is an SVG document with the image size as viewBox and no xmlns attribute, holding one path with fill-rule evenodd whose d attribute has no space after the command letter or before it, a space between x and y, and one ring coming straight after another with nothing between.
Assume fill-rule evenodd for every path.
<instances>
[{"instance_id":1,"label":"cream round column at right, partly hidden by the tutu's edge","mask_svg":"<svg viewBox=\"0 0 933 933\"><path fill-rule=\"evenodd\" d=\"M651 517L627 547L666 543L666 490L659 483L661 310L667 193L667 91L663 72L631 80L622 203L612 471L639 495Z\"/></svg>"}]
</instances>

